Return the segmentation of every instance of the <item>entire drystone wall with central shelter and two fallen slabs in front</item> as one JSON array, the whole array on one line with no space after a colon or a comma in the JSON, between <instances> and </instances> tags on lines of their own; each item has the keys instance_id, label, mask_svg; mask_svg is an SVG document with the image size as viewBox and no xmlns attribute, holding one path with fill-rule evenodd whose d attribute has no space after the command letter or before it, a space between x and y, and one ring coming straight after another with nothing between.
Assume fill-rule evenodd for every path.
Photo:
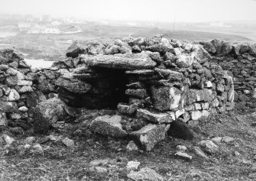
<instances>
[{"instance_id":1,"label":"entire drystone wall with central shelter and two fallen slabs in front","mask_svg":"<svg viewBox=\"0 0 256 181\"><path fill-rule=\"evenodd\" d=\"M115 111L93 117L89 131L152 150L167 134L175 136L173 125L255 108L255 52L255 44L222 40L128 37L85 47L75 42L65 60L31 69L18 50L1 50L0 125L34 125L45 134L58 121L83 118L80 108L106 108Z\"/></svg>"}]
</instances>

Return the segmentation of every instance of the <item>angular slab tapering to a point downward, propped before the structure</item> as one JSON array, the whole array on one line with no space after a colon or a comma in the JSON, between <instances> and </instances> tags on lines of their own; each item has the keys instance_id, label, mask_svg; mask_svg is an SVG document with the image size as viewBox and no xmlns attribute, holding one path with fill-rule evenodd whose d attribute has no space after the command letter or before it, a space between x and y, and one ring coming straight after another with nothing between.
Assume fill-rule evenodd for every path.
<instances>
[{"instance_id":1,"label":"angular slab tapering to a point downward, propped before the structure","mask_svg":"<svg viewBox=\"0 0 256 181\"><path fill-rule=\"evenodd\" d=\"M147 126L141 128L138 131L131 132L130 136L134 141L141 144L144 150L150 151L154 148L154 145L159 141L164 140L165 134L170 125L164 124L147 124Z\"/></svg>"}]
</instances>

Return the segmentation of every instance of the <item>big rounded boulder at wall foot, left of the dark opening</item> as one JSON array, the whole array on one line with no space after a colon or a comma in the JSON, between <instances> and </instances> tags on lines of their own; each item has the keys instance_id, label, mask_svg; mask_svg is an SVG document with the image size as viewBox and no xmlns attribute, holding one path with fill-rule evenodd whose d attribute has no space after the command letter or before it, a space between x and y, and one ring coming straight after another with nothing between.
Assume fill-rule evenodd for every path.
<instances>
[{"instance_id":1,"label":"big rounded boulder at wall foot, left of the dark opening","mask_svg":"<svg viewBox=\"0 0 256 181\"><path fill-rule=\"evenodd\" d=\"M34 108L34 132L46 134L54 123L69 118L64 107L65 103L57 98L40 102Z\"/></svg>"}]
</instances>

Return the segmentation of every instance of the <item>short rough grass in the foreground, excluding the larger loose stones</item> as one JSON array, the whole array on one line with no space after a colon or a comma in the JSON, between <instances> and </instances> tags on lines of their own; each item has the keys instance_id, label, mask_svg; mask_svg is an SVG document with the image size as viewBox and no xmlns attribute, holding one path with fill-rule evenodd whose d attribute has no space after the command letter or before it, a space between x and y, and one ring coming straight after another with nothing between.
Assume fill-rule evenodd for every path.
<instances>
[{"instance_id":1,"label":"short rough grass in the foreground, excluding the larger loose stones","mask_svg":"<svg viewBox=\"0 0 256 181\"><path fill-rule=\"evenodd\" d=\"M125 149L127 140L94 134L71 137L77 124L68 124L58 133L51 134L72 138L75 147L68 148L59 141L48 141L42 144L43 155L33 155L18 149L25 137L34 135L25 133L15 137L16 146L2 150L0 180L128 180L125 166L130 160L141 162L140 167L151 167L166 180L255 180L256 176L252 178L255 171L252 167L256 155L256 128L251 126L255 118L234 112L222 115L192 128L196 136L193 141L167 137L151 152L128 151ZM40 141L42 136L36 136ZM219 144L215 154L208 154L209 160L193 152L199 141L223 136L234 137L235 142ZM191 161L174 157L178 144L188 148L186 153L193 156ZM235 155L235 151L240 155ZM97 159L112 160L106 166L107 173L89 170L89 162Z\"/></svg>"}]
</instances>

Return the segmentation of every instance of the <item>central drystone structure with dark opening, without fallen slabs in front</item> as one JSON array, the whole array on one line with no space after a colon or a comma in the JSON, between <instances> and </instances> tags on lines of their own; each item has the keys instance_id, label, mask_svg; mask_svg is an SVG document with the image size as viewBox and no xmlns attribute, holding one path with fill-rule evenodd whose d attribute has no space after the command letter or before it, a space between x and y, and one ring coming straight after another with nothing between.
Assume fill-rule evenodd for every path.
<instances>
[{"instance_id":1,"label":"central drystone structure with dark opening, without fallen slabs in front","mask_svg":"<svg viewBox=\"0 0 256 181\"><path fill-rule=\"evenodd\" d=\"M83 63L57 80L60 99L73 107L117 105L122 115L157 124L199 124L235 105L232 76L199 44L125 38L93 48L73 44L67 56Z\"/></svg>"}]
</instances>

